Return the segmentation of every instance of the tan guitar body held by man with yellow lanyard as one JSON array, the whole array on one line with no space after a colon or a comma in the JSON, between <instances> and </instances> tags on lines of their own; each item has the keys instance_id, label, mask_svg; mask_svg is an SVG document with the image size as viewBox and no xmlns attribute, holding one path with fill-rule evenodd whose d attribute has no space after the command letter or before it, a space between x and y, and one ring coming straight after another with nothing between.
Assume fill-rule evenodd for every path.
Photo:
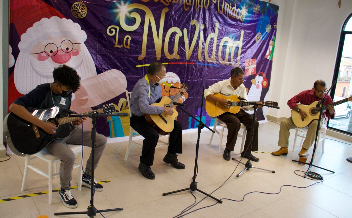
<instances>
[{"instance_id":1,"label":"tan guitar body held by man with yellow lanyard","mask_svg":"<svg viewBox=\"0 0 352 218\"><path fill-rule=\"evenodd\" d=\"M161 98L159 103L151 104L153 106L167 107L171 102L169 97L164 96ZM144 114L147 122L158 131L160 135L166 135L174 129L174 120L178 116L178 112L175 108L171 107L174 110L172 116L163 113L163 114Z\"/></svg>"}]
</instances>

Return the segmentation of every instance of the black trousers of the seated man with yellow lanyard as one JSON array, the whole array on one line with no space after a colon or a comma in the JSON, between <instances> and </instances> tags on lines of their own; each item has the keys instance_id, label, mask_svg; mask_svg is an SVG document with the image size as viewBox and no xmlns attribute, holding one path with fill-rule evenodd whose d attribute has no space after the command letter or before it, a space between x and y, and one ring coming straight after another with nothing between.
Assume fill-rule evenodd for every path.
<instances>
[{"instance_id":1,"label":"black trousers of the seated man with yellow lanyard","mask_svg":"<svg viewBox=\"0 0 352 218\"><path fill-rule=\"evenodd\" d=\"M154 162L155 147L159 139L158 131L149 125L144 116L132 116L130 119L130 125L144 137L142 155L139 158L140 162L147 166L152 166ZM182 154L182 124L177 120L174 121L174 129L170 132L169 142L169 153Z\"/></svg>"}]
</instances>

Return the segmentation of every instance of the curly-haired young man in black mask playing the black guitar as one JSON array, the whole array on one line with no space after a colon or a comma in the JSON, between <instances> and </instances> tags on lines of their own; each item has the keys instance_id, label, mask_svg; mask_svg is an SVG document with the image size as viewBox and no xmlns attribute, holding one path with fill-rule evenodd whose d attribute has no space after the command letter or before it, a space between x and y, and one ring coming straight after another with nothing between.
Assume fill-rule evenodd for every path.
<instances>
[{"instance_id":1,"label":"curly-haired young man in black mask playing the black guitar","mask_svg":"<svg viewBox=\"0 0 352 218\"><path fill-rule=\"evenodd\" d=\"M61 106L66 110L70 109L72 93L80 88L80 76L77 71L71 67L62 65L56 67L53 71L54 82L44 83L38 85L26 95L16 99L9 107L9 110L18 117L33 123L43 129L46 133L56 134L57 127L50 123L45 122L37 117L34 117L26 110L27 107L37 109L48 109L53 106ZM77 201L70 191L72 180L72 169L75 163L75 155L67 144L82 144L82 122L86 118L82 117L71 123L71 133L68 137L57 139L50 142L44 149L50 154L59 157L60 165L60 182L61 188L59 196L65 206L76 208ZM83 145L92 147L92 140L90 138L91 132L83 129ZM94 153L94 169L98 166L101 155L103 154L106 146L106 137L100 134L96 135L95 153ZM95 191L103 191L103 186L96 182L95 178L91 178L92 156L89 157L86 164L86 170L82 176L82 182L90 187L91 181L94 181ZM92 182L93 182L92 181Z\"/></svg>"}]
</instances>

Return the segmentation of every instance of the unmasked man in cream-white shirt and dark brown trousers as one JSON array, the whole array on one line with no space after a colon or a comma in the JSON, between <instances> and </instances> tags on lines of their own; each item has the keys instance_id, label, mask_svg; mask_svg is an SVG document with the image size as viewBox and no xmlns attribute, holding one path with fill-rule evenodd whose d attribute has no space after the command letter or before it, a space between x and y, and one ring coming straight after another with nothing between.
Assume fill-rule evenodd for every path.
<instances>
[{"instance_id":1,"label":"unmasked man in cream-white shirt and dark brown trousers","mask_svg":"<svg viewBox=\"0 0 352 218\"><path fill-rule=\"evenodd\" d=\"M237 95L248 101L246 87L243 85L243 79L244 79L244 71L240 67L233 68L231 70L231 78L217 82L209 86L209 88L205 89L204 91L204 97L208 100L218 102L222 107L230 107L230 104L227 103L226 99L221 99L214 96L214 93L220 93L225 96ZM258 106L258 107L263 107L263 106ZM243 106L241 107L241 109L244 109L247 111L253 110L253 106L251 105ZM248 159L251 158L252 161L259 161L259 158L254 157L251 154L250 148L248 148L251 142L252 130L254 129L252 151L258 150L259 123L257 120L254 120L254 127L252 127L253 118L249 113L245 112L244 110L240 110L238 113L235 113L235 114L230 112L225 112L218 117L218 119L220 119L227 125L227 130L228 130L227 143L226 143L226 148L224 150L224 155L223 155L224 159L227 161L229 161L231 158L230 153L231 151L233 151L235 147L236 140L237 140L237 133L240 130L241 123L243 123L246 126L246 130L247 130L246 142L244 145L244 150L243 152L241 152L241 157L245 157Z\"/></svg>"}]
</instances>

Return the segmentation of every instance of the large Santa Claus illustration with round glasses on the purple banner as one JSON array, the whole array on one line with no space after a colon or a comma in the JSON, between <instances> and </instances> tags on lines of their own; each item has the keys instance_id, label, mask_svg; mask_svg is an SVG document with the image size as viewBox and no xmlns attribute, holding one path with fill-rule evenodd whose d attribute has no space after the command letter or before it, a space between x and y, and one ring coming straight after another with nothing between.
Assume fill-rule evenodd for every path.
<instances>
[{"instance_id":1,"label":"large Santa Claus illustration with round glasses on the purple banner","mask_svg":"<svg viewBox=\"0 0 352 218\"><path fill-rule=\"evenodd\" d=\"M120 70L111 69L97 75L93 58L84 44L87 34L78 23L38 0L11 1L11 10L10 22L21 40L14 72L9 76L9 104L37 85L52 82L52 70L62 64L76 69L81 77L82 86L73 94L71 103L71 110L77 113L90 111L91 107L125 91L127 81ZM26 26L31 23L32 26Z\"/></svg>"}]
</instances>

